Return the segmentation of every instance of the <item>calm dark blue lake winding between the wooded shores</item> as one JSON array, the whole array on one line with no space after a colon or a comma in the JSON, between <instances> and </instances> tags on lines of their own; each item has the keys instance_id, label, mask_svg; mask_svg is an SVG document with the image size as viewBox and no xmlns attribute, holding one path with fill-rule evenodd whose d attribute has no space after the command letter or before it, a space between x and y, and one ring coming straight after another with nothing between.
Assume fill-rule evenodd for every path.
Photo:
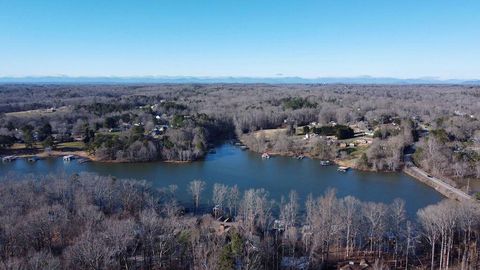
<instances>
[{"instance_id":1,"label":"calm dark blue lake winding between the wooded shores","mask_svg":"<svg viewBox=\"0 0 480 270\"><path fill-rule=\"evenodd\" d=\"M163 162L109 164L63 162L61 158L29 163L24 159L12 163L0 162L0 177L9 173L49 174L94 172L117 178L145 179L155 187L178 185L178 196L189 200L187 185L194 179L207 183L203 197L211 198L214 183L237 184L240 189L264 188L273 199L296 190L303 200L309 193L318 196L327 188L335 188L339 197L353 195L363 201L390 203L395 198L406 201L407 211L415 214L419 208L440 201L443 197L434 189L403 173L373 173L350 170L339 173L336 166L320 166L318 160L296 160L274 157L262 160L260 155L223 145L204 161L186 164ZM208 197L208 198L207 198Z\"/></svg>"}]
</instances>

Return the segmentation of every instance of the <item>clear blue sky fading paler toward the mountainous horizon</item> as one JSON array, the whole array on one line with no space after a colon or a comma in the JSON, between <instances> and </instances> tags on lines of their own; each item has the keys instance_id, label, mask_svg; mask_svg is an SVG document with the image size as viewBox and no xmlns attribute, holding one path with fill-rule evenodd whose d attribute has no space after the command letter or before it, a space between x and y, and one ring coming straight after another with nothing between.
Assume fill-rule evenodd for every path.
<instances>
[{"instance_id":1,"label":"clear blue sky fading paler toward the mountainous horizon","mask_svg":"<svg viewBox=\"0 0 480 270\"><path fill-rule=\"evenodd\" d=\"M480 78L480 1L0 0L0 76Z\"/></svg>"}]
</instances>

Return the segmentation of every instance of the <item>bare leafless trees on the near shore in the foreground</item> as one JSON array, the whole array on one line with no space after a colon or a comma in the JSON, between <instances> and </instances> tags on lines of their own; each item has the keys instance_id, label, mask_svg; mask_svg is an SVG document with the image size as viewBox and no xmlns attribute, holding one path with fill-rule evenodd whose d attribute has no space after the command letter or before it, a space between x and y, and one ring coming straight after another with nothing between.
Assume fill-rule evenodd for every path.
<instances>
[{"instance_id":1,"label":"bare leafless trees on the near shore in the foreground","mask_svg":"<svg viewBox=\"0 0 480 270\"><path fill-rule=\"evenodd\" d=\"M409 219L400 199L386 205L328 190L299 205L295 191L275 202L263 189L204 190L201 180L179 191L93 174L12 175L0 182L0 268L480 267L473 202L445 200ZM177 192L191 203L182 206Z\"/></svg>"}]
</instances>

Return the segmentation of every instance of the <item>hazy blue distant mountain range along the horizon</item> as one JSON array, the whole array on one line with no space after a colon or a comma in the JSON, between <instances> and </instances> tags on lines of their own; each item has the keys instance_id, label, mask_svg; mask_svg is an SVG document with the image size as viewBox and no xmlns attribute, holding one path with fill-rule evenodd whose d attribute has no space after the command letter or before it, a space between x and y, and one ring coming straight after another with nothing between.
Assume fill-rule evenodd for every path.
<instances>
[{"instance_id":1,"label":"hazy blue distant mountain range along the horizon","mask_svg":"<svg viewBox=\"0 0 480 270\"><path fill-rule=\"evenodd\" d=\"M190 76L145 76L145 77L0 77L0 83L268 83L268 84L468 84L480 85L480 80L441 80L432 77L399 79L390 77L190 77Z\"/></svg>"}]
</instances>

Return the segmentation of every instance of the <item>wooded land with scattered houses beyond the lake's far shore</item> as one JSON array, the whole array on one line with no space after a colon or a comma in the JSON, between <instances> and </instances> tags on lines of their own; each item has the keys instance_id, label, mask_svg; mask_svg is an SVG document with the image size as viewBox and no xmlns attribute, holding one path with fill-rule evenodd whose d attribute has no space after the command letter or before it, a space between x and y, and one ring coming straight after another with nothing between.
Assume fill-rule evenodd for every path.
<instances>
[{"instance_id":1,"label":"wooded land with scattered houses beyond the lake's far shore","mask_svg":"<svg viewBox=\"0 0 480 270\"><path fill-rule=\"evenodd\" d=\"M471 193L479 98L476 85L4 84L0 152L192 161L238 139L257 152L379 171L401 169L413 153L416 166Z\"/></svg>"}]
</instances>

